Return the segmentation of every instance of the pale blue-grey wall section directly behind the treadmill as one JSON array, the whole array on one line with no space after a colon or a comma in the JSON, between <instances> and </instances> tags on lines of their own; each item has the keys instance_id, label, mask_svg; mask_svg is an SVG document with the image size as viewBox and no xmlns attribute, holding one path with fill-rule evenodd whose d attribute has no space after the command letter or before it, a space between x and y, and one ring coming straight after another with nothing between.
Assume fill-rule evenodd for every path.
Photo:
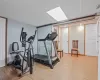
<instances>
[{"instance_id":1,"label":"pale blue-grey wall section directly behind the treadmill","mask_svg":"<svg viewBox=\"0 0 100 80\"><path fill-rule=\"evenodd\" d=\"M48 33L51 33L51 31L52 31L52 26L38 28L37 38L44 39L48 35ZM51 41L46 41L46 45L47 45L48 51L51 53L51 48L52 48ZM38 41L38 51L37 52L38 54L41 54L41 55L47 55L43 41Z\"/></svg>"}]
</instances>

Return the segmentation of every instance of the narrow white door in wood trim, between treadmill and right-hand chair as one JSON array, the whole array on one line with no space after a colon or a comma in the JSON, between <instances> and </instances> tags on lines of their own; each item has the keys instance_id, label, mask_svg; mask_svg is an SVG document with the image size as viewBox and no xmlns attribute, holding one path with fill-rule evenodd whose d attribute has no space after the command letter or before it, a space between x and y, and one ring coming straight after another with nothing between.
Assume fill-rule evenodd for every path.
<instances>
[{"instance_id":1,"label":"narrow white door in wood trim, between treadmill and right-hand chair","mask_svg":"<svg viewBox=\"0 0 100 80\"><path fill-rule=\"evenodd\" d=\"M62 49L68 53L68 28L62 28Z\"/></svg>"}]
</instances>

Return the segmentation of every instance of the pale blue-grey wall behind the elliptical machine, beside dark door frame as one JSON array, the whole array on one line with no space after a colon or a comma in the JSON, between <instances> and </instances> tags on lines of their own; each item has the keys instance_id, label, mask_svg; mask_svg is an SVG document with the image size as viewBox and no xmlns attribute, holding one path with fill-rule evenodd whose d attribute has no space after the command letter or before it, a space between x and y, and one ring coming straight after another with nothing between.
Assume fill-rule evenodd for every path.
<instances>
[{"instance_id":1,"label":"pale blue-grey wall behind the elliptical machine, beside dark door frame","mask_svg":"<svg viewBox=\"0 0 100 80\"><path fill-rule=\"evenodd\" d=\"M23 48L21 47L21 42L20 42L20 34L21 34L22 27L24 27L24 31L27 32L27 38L29 36L32 36L36 29L36 27L32 25L26 25L26 24L8 19L8 44L7 44L8 62L12 60L12 56L10 55L10 52L12 51L11 44L13 42L18 42L20 50L23 50ZM34 53L37 53L37 38L35 38L33 46L34 46Z\"/></svg>"}]
</instances>

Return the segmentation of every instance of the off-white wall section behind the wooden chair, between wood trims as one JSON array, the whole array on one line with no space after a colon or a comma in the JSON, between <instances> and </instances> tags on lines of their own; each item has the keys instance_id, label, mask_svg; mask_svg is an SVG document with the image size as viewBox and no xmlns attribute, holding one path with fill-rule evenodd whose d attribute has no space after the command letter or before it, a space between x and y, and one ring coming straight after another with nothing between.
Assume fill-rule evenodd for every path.
<instances>
[{"instance_id":1,"label":"off-white wall section behind the wooden chair, between wood trims","mask_svg":"<svg viewBox=\"0 0 100 80\"><path fill-rule=\"evenodd\" d=\"M69 28L69 52L72 49L72 40L78 40L79 54L84 54L84 29L79 30L80 26L71 26Z\"/></svg>"}]
</instances>

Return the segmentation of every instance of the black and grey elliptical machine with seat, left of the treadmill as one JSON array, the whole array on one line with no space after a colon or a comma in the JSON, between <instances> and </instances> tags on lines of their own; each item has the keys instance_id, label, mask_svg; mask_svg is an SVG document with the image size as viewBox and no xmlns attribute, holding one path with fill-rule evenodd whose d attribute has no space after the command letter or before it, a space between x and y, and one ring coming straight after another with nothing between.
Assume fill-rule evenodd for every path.
<instances>
[{"instance_id":1,"label":"black and grey elliptical machine with seat, left of the treadmill","mask_svg":"<svg viewBox=\"0 0 100 80\"><path fill-rule=\"evenodd\" d=\"M21 30L20 42L22 43L22 47L24 47L24 51L19 51L18 42L13 42L11 54L16 54L16 56L14 57L14 61L12 62L12 65L17 69L20 69L22 71L22 74L25 73L27 69L29 70L30 74L32 74L33 64L34 64L34 51L33 51L32 43L36 36L36 30L35 30L35 34L33 36L30 36L28 39L26 39L27 33L24 32L23 30L24 28L22 28ZM26 43L28 43L27 49L26 49L27 47ZM22 52L24 53L23 55ZM24 68L24 62L26 62L25 68Z\"/></svg>"}]
</instances>

